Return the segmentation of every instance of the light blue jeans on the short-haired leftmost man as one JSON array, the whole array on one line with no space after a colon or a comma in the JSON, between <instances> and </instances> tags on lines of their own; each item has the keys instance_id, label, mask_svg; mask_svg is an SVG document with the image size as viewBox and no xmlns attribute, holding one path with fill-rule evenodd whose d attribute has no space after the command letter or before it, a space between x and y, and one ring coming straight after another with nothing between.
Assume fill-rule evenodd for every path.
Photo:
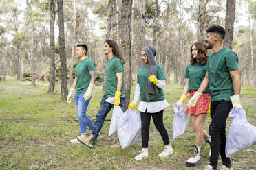
<instances>
[{"instance_id":1,"label":"light blue jeans on the short-haired leftmost man","mask_svg":"<svg viewBox=\"0 0 256 170\"><path fill-rule=\"evenodd\" d=\"M85 101L85 99L83 98L84 94L85 93L74 96L74 104L76 105L76 116L79 120L81 134L87 134L86 126L88 126L90 130L93 130L94 128L94 124L92 123L91 119L89 119L89 117L87 117L86 115L86 110L92 96L89 98L89 100Z\"/></svg>"}]
</instances>

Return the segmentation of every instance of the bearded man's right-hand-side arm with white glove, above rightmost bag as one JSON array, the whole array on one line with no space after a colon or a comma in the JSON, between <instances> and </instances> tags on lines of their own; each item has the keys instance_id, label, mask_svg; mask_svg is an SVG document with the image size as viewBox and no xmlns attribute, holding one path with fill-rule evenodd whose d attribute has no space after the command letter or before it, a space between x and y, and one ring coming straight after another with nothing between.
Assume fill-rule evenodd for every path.
<instances>
[{"instance_id":1,"label":"bearded man's right-hand-side arm with white glove, above rightmost bag","mask_svg":"<svg viewBox=\"0 0 256 170\"><path fill-rule=\"evenodd\" d=\"M231 102L233 107L242 108L241 102L240 102L240 91L241 91L241 80L239 76L238 69L229 71L231 74L231 78L233 81L233 88L235 95L231 96Z\"/></svg>"}]
</instances>

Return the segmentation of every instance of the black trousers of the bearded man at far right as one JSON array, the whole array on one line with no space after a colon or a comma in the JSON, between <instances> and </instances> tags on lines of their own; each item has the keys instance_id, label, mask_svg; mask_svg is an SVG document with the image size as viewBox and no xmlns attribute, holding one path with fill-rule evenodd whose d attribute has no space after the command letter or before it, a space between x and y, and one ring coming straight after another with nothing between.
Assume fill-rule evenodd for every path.
<instances>
[{"instance_id":1,"label":"black trousers of the bearded man at far right","mask_svg":"<svg viewBox=\"0 0 256 170\"><path fill-rule=\"evenodd\" d=\"M217 169L219 153L223 165L231 167L231 160L226 158L226 119L232 109L231 101L212 101L211 102L211 124L209 133L211 135L211 158L210 165Z\"/></svg>"}]
</instances>

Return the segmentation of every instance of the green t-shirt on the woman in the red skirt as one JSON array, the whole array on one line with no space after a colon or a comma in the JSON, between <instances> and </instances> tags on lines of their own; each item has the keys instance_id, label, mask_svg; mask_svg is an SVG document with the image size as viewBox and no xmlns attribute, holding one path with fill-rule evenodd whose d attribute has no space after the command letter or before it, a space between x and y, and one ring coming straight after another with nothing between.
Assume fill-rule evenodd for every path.
<instances>
[{"instance_id":1,"label":"green t-shirt on the woman in the red skirt","mask_svg":"<svg viewBox=\"0 0 256 170\"><path fill-rule=\"evenodd\" d=\"M184 77L189 78L189 91L198 90L202 80L204 80L206 68L207 64L200 65L198 62L194 62L192 65L188 64L188 66L186 66ZM206 88L204 93L210 93L209 88Z\"/></svg>"}]
</instances>

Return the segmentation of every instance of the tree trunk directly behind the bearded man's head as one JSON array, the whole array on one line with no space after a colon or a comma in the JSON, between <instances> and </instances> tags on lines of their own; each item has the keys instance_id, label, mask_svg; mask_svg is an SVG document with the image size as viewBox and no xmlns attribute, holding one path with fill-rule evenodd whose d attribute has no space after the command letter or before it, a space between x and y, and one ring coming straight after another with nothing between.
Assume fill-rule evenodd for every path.
<instances>
[{"instance_id":1,"label":"tree trunk directly behind the bearded man's head","mask_svg":"<svg viewBox=\"0 0 256 170\"><path fill-rule=\"evenodd\" d=\"M233 32L235 21L235 0L226 1L226 36L224 38L224 46L232 49Z\"/></svg>"}]
</instances>

